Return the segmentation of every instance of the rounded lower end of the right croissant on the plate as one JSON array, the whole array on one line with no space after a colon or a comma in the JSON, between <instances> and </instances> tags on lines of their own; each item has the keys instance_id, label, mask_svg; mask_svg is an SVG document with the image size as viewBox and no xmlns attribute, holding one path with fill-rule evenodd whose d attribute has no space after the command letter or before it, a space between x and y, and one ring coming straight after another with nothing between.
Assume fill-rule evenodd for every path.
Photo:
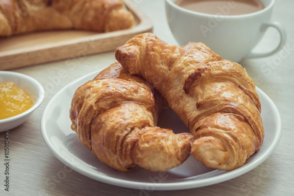
<instances>
[{"instance_id":1,"label":"rounded lower end of the right croissant on the plate","mask_svg":"<svg viewBox=\"0 0 294 196\"><path fill-rule=\"evenodd\" d=\"M233 170L259 146L258 137L245 120L233 113L214 113L196 123L193 156L206 167Z\"/></svg>"}]
</instances>

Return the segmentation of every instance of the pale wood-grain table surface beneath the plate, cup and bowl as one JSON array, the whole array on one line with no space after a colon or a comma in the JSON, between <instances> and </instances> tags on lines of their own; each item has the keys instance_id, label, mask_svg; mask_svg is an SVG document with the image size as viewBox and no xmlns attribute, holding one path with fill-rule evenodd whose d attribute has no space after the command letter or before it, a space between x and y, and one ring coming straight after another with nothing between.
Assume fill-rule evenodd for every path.
<instances>
[{"instance_id":1,"label":"pale wood-grain table surface beneath the plate, cup and bowl","mask_svg":"<svg viewBox=\"0 0 294 196\"><path fill-rule=\"evenodd\" d=\"M153 32L162 40L177 44L165 17L164 0L134 0L153 21ZM272 20L284 25L288 32L286 46L290 55L279 54L241 62L256 85L276 104L282 119L282 138L272 155L260 166L237 178L196 189L178 191L148 191L149 196L290 196L294 195L294 0L276 2ZM269 50L277 44L279 36L275 30L268 30L256 51ZM278 59L278 60L277 60ZM0 161L0 196L88 196L88 195L132 195L141 196L140 190L117 187L88 178L78 172L67 172L65 178L56 174L65 169L46 146L40 130L41 115L52 98L62 87L87 73L105 68L115 62L114 51L12 70L25 73L37 79L45 87L42 105L21 126L9 131L10 135L10 187L4 191L4 164ZM54 88L46 88L60 70L67 74L56 81ZM4 134L0 133L0 156L4 154ZM263 170L263 175L260 171ZM54 177L55 176L55 177Z\"/></svg>"}]
</instances>

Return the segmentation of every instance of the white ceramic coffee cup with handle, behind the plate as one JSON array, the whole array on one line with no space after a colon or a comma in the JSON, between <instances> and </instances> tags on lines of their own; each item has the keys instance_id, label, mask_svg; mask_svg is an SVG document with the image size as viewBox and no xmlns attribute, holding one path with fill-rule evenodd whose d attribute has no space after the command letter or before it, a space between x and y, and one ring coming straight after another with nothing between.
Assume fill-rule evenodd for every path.
<instances>
[{"instance_id":1,"label":"white ceramic coffee cup with handle, behind the plate","mask_svg":"<svg viewBox=\"0 0 294 196\"><path fill-rule=\"evenodd\" d=\"M286 43L287 33L283 26L271 22L274 0L261 0L265 8L243 15L228 15L236 6L231 0L219 7L216 15L184 9L166 0L166 15L172 34L179 45L202 42L225 59L240 62L243 58L257 58L278 52ZM280 34L279 45L270 52L253 53L268 27L274 27Z\"/></svg>"}]
</instances>

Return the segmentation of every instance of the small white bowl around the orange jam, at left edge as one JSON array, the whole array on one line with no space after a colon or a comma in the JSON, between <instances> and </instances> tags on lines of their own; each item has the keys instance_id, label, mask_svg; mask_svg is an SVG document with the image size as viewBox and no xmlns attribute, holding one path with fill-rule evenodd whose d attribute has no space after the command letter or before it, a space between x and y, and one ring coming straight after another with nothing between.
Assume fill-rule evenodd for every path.
<instances>
[{"instance_id":1,"label":"small white bowl around the orange jam, at left edge","mask_svg":"<svg viewBox=\"0 0 294 196\"><path fill-rule=\"evenodd\" d=\"M0 71L0 83L4 81L14 82L18 88L23 89L33 99L34 105L21 114L0 120L0 132L25 123L32 112L42 103L45 94L44 88L37 80L22 73Z\"/></svg>"}]
</instances>

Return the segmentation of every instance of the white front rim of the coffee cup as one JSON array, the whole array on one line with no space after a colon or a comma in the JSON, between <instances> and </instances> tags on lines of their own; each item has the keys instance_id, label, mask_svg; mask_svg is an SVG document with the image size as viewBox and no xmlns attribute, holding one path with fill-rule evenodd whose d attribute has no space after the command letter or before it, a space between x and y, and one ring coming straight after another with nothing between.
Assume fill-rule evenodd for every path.
<instances>
[{"instance_id":1,"label":"white front rim of the coffee cup","mask_svg":"<svg viewBox=\"0 0 294 196\"><path fill-rule=\"evenodd\" d=\"M252 16L256 16L259 14L262 14L263 12L268 11L274 4L275 0L271 0L270 4L268 6L266 6L264 9L261 9L257 12L252 12L252 13L248 13L248 14L241 14L241 15L217 15L217 14L207 14L207 13L202 13L202 12L196 12L196 11L191 11L185 8L182 8L181 6L175 4L174 2L172 2L172 0L165 0L167 3L169 3L173 8L179 9L183 12L192 14L192 15L198 15L198 16L202 16L202 17L215 17L215 16L221 16L223 18L227 18L227 19L235 19L235 18L245 18L245 17L252 17Z\"/></svg>"}]
</instances>

